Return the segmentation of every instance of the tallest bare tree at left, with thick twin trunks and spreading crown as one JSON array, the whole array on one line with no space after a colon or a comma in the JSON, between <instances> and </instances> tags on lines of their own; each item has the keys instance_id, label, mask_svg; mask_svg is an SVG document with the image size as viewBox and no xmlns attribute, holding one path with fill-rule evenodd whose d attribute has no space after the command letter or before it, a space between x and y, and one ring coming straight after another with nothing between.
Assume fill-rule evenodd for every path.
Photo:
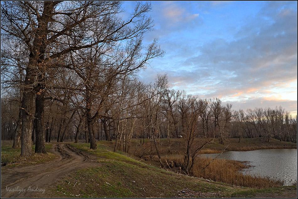
<instances>
[{"instance_id":1,"label":"tallest bare tree at left, with thick twin trunks and spreading crown","mask_svg":"<svg viewBox=\"0 0 298 199\"><path fill-rule=\"evenodd\" d=\"M39 137L38 141L41 141L37 144L36 152L44 151L43 103L45 90L49 86L46 82L46 71L50 68L66 67L67 64L63 62L64 56L77 50L123 39L141 38L143 33L152 28L151 18L145 15L150 10L150 3L137 3L132 17L123 22L118 15L122 11L121 2L117 1L1 3L2 38L7 41L7 45L19 42L26 46L28 52L21 103L23 111L21 156L32 155L30 107L33 105L35 95L36 136ZM154 46L148 49L149 55L160 54ZM128 71L134 69L126 68ZM92 145L94 148L94 143Z\"/></svg>"}]
</instances>

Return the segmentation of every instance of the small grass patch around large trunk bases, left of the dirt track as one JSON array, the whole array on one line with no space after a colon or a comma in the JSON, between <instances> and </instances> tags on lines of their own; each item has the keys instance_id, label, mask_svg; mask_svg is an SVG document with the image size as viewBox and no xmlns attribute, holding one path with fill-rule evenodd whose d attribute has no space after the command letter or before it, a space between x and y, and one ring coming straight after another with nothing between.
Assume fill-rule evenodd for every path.
<instances>
[{"instance_id":1,"label":"small grass patch around large trunk bases, left of the dirt track","mask_svg":"<svg viewBox=\"0 0 298 199\"><path fill-rule=\"evenodd\" d=\"M13 149L12 141L1 141L1 166L23 166L30 164L38 164L53 160L56 155L49 152L52 144L46 144L47 154L34 154L32 157L20 157L21 149ZM32 145L35 151L35 145Z\"/></svg>"}]
</instances>

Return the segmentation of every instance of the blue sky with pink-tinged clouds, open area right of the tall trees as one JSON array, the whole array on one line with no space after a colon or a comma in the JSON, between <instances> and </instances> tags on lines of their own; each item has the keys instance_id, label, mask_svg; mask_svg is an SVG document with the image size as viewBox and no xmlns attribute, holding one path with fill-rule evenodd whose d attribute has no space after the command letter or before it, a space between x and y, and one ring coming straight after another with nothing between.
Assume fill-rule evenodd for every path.
<instances>
[{"instance_id":1,"label":"blue sky with pink-tinged clouds, open area right of the tall trees","mask_svg":"<svg viewBox=\"0 0 298 199\"><path fill-rule=\"evenodd\" d=\"M154 30L166 52L139 79L167 73L169 88L218 97L233 110L282 106L297 114L296 1L152 1ZM126 12L136 2L125 1Z\"/></svg>"}]
</instances>

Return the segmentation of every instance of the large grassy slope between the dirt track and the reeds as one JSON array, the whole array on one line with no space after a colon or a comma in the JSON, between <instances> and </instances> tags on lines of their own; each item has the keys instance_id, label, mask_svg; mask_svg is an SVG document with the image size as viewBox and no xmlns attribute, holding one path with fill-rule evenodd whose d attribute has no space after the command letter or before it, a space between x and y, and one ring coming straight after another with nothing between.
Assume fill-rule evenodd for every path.
<instances>
[{"instance_id":1,"label":"large grassy slope between the dirt track and the reeds","mask_svg":"<svg viewBox=\"0 0 298 199\"><path fill-rule=\"evenodd\" d=\"M239 191L222 183L177 175L146 165L124 154L113 153L112 148L99 143L96 150L90 150L89 144L85 143L71 145L96 155L100 166L84 168L66 177L55 190L59 196L218 197Z\"/></svg>"}]
</instances>

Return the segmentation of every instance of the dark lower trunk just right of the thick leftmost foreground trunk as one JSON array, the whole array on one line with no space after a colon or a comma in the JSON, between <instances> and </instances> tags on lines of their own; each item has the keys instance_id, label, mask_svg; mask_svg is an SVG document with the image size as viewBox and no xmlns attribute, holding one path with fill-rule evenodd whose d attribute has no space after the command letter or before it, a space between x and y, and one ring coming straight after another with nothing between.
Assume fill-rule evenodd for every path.
<instances>
[{"instance_id":1,"label":"dark lower trunk just right of the thick leftmost foreground trunk","mask_svg":"<svg viewBox=\"0 0 298 199\"><path fill-rule=\"evenodd\" d=\"M46 154L44 128L44 93L36 95L35 99L35 153Z\"/></svg>"}]
</instances>

